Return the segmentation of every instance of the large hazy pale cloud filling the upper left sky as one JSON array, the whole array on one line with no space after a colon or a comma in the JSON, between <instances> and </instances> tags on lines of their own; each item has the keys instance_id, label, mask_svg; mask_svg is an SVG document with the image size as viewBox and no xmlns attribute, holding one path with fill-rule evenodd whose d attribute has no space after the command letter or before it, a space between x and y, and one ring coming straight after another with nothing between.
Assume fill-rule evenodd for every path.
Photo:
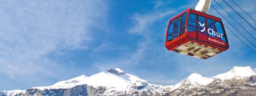
<instances>
[{"instance_id":1,"label":"large hazy pale cloud filling the upper left sky","mask_svg":"<svg viewBox=\"0 0 256 96\"><path fill-rule=\"evenodd\" d=\"M12 79L63 71L46 55L88 48L91 27L107 12L99 0L2 1L0 6L0 73Z\"/></svg>"}]
</instances>

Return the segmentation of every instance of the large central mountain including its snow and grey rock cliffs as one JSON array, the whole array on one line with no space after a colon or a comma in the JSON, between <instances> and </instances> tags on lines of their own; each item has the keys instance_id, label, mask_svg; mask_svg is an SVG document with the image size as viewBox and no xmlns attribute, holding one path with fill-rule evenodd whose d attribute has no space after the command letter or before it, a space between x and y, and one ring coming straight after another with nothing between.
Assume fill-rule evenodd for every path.
<instances>
[{"instance_id":1,"label":"large central mountain including its snow and grey rock cliffs","mask_svg":"<svg viewBox=\"0 0 256 96\"><path fill-rule=\"evenodd\" d=\"M33 87L25 95L154 95L164 93L162 85L150 84L120 69L107 69L89 77L81 75L52 86ZM72 91L70 91L72 90Z\"/></svg>"}]
</instances>

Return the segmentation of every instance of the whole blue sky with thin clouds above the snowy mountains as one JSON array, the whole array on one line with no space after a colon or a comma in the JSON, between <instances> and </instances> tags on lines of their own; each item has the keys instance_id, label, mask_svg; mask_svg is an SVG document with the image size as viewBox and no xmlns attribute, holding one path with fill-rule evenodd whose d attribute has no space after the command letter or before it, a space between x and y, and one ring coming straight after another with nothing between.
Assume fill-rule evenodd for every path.
<instances>
[{"instance_id":1,"label":"whole blue sky with thin clouds above the snowy mountains","mask_svg":"<svg viewBox=\"0 0 256 96\"><path fill-rule=\"evenodd\" d=\"M231 0L226 1L234 5ZM256 37L256 31L224 2L217 2ZM256 19L254 0L235 2ZM0 90L49 86L108 68L120 68L164 86L174 85L192 73L213 77L234 66L256 68L256 55L227 29L230 49L207 60L165 48L168 20L196 4L196 0L2 0ZM212 5L235 23L214 1ZM242 10L235 5L234 8L256 26ZM210 11L220 17L213 9ZM253 38L245 36L256 45Z\"/></svg>"}]
</instances>

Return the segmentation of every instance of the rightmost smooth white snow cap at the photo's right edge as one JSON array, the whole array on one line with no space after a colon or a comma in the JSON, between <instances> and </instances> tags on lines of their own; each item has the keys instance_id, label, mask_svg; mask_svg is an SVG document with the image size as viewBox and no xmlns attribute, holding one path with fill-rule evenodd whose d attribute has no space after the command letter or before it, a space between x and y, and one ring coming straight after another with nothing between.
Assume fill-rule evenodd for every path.
<instances>
[{"instance_id":1,"label":"rightmost smooth white snow cap at the photo's right edge","mask_svg":"<svg viewBox=\"0 0 256 96\"><path fill-rule=\"evenodd\" d=\"M248 77L251 75L256 75L255 69L247 66L247 67L233 67L229 72L225 72L222 74L218 74L213 79L219 78L219 79L241 79L244 77Z\"/></svg>"}]
</instances>

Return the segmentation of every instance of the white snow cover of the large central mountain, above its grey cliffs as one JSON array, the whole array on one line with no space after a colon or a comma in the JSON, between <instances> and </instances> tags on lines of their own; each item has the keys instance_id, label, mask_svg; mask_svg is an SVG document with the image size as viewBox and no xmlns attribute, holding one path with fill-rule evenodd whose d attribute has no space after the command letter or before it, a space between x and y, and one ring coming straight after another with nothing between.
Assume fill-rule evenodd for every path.
<instances>
[{"instance_id":1,"label":"white snow cover of the large central mountain, above its grey cliffs","mask_svg":"<svg viewBox=\"0 0 256 96\"><path fill-rule=\"evenodd\" d=\"M149 84L146 80L143 80L137 76L126 74L120 69L107 69L100 73L91 75L89 77L81 75L69 80L60 81L52 86L46 87L33 87L31 89L64 89L72 88L77 85L87 84L94 88L105 87L107 90L103 95L115 95L119 93L133 93L134 91L146 91L149 94L162 93L165 88L162 85Z\"/></svg>"}]
</instances>

